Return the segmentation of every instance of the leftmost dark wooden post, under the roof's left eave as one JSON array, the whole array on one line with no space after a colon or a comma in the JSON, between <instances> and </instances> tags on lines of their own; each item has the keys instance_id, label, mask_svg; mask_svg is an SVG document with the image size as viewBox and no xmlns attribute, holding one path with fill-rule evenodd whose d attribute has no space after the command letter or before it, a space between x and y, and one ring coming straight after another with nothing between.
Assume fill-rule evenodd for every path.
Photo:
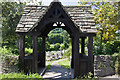
<instances>
[{"instance_id":1,"label":"leftmost dark wooden post, under the roof's left eave","mask_svg":"<svg viewBox=\"0 0 120 80\"><path fill-rule=\"evenodd\" d=\"M19 45L19 53L20 53L20 70L24 70L24 56L25 56L25 35L20 35L20 45Z\"/></svg>"}]
</instances>

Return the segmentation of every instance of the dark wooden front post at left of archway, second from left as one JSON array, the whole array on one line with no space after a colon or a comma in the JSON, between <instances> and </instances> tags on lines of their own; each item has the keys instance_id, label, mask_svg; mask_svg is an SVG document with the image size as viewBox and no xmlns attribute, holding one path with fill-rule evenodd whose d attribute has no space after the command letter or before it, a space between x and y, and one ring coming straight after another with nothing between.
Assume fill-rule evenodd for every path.
<instances>
[{"instance_id":1,"label":"dark wooden front post at left of archway, second from left","mask_svg":"<svg viewBox=\"0 0 120 80\"><path fill-rule=\"evenodd\" d=\"M38 37L33 36L33 62L32 62L32 72L33 73L36 73L38 70L37 43L38 43Z\"/></svg>"}]
</instances>

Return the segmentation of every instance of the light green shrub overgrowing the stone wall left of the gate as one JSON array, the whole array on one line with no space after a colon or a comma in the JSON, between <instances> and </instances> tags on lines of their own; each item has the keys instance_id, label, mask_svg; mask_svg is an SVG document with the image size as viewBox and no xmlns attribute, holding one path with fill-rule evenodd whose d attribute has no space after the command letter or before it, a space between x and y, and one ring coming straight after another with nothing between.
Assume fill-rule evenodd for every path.
<instances>
[{"instance_id":1,"label":"light green shrub overgrowing the stone wall left of the gate","mask_svg":"<svg viewBox=\"0 0 120 80\"><path fill-rule=\"evenodd\" d=\"M6 69L8 69L7 72L9 72L11 66L18 66L19 64L18 55L13 54L11 49L6 47L0 48L0 58L3 63L3 72L6 72Z\"/></svg>"}]
</instances>

